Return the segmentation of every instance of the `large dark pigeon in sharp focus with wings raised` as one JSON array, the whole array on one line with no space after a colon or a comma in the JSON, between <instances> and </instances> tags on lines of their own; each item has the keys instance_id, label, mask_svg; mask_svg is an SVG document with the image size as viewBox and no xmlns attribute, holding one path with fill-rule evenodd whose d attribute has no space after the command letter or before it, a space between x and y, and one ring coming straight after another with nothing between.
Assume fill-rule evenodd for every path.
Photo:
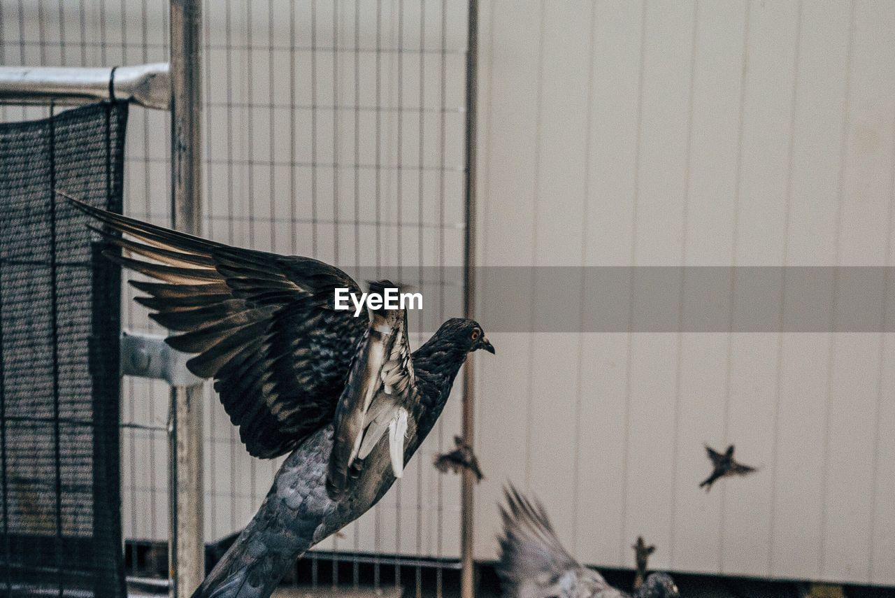
<instances>
[{"instance_id":1,"label":"large dark pigeon in sharp focus with wings raised","mask_svg":"<svg viewBox=\"0 0 895 598\"><path fill-rule=\"evenodd\" d=\"M148 295L136 301L174 331L166 338L168 345L195 355L187 362L190 371L215 380L249 453L263 458L289 454L258 512L192 598L268 598L296 559L388 491L396 463L413 456L438 420L466 356L479 349L494 353L478 322L452 318L406 363L398 360L403 365L393 371L391 352L388 360L371 361L371 325L388 321L393 328L377 334L392 346L400 342L400 354L406 350L405 338L399 340L405 332L395 325L406 321L405 314L374 314L371 320L366 312L355 317L335 309L337 288L360 295L357 283L341 269L311 258L215 243L60 194L94 219L98 226L93 230L113 248L107 251L111 260L155 279L132 281ZM411 369L405 387L395 377L408 377ZM371 376L384 385L359 381ZM359 394L363 389L376 389L369 406L354 404L366 400ZM388 441L370 440L364 446L371 437L358 435L348 422L363 414L364 422L369 417L382 423L377 401L386 389L403 393L399 404L406 414L389 412L397 413L398 421ZM352 456L359 439L369 449L366 458L358 453L354 460L343 460L346 450ZM396 450L391 443L397 440L403 446ZM343 464L350 479L340 487L339 479L330 478L333 472L341 475Z\"/></svg>"}]
</instances>

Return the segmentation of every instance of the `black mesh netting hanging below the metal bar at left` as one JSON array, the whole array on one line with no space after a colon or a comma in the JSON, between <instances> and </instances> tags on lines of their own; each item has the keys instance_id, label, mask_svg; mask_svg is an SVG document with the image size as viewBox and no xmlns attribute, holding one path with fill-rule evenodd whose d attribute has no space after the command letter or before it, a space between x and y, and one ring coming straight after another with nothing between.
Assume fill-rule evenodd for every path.
<instances>
[{"instance_id":1,"label":"black mesh netting hanging below the metal bar at left","mask_svg":"<svg viewBox=\"0 0 895 598\"><path fill-rule=\"evenodd\" d=\"M126 103L0 124L0 592L124 596L120 279L54 188L122 205Z\"/></svg>"}]
</instances>

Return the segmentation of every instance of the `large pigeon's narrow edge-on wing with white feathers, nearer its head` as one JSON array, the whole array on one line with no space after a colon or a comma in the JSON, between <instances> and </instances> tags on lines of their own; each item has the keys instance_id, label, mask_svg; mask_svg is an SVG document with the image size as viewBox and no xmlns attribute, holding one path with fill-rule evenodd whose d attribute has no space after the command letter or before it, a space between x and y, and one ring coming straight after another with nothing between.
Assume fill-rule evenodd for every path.
<instances>
[{"instance_id":1,"label":"large pigeon's narrow edge-on wing with white feathers, nearer its head","mask_svg":"<svg viewBox=\"0 0 895 598\"><path fill-rule=\"evenodd\" d=\"M371 284L377 292L388 281ZM329 459L329 490L345 491L348 477L388 431L392 466L401 477L408 407L416 391L405 310L377 310L358 346L339 398L335 442Z\"/></svg>"}]
</instances>

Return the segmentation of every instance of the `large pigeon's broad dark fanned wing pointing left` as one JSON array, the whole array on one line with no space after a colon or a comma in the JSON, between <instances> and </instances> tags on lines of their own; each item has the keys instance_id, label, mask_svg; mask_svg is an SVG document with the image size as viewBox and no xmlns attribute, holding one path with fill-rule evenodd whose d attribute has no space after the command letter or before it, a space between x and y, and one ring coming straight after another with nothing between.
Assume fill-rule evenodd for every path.
<instances>
[{"instance_id":1,"label":"large pigeon's broad dark fanned wing pointing left","mask_svg":"<svg viewBox=\"0 0 895 598\"><path fill-rule=\"evenodd\" d=\"M277 457L332 421L366 314L333 309L335 289L360 293L345 272L302 257L239 249L70 201L112 231L132 257L110 258L155 278L132 281L136 301L196 354L187 367L214 378L255 457Z\"/></svg>"}]
</instances>

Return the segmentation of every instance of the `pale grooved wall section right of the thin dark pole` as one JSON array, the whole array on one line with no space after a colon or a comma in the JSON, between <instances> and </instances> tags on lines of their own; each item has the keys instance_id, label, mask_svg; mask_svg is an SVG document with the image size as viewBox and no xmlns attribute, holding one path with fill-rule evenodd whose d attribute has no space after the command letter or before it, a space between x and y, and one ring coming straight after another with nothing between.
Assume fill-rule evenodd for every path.
<instances>
[{"instance_id":1,"label":"pale grooved wall section right of the thin dark pole","mask_svg":"<svg viewBox=\"0 0 895 598\"><path fill-rule=\"evenodd\" d=\"M482 2L479 265L889 265L892 30L887 0ZM644 534L654 568L895 585L891 335L490 336L477 558L512 481L587 563ZM703 441L761 471L701 491Z\"/></svg>"}]
</instances>

